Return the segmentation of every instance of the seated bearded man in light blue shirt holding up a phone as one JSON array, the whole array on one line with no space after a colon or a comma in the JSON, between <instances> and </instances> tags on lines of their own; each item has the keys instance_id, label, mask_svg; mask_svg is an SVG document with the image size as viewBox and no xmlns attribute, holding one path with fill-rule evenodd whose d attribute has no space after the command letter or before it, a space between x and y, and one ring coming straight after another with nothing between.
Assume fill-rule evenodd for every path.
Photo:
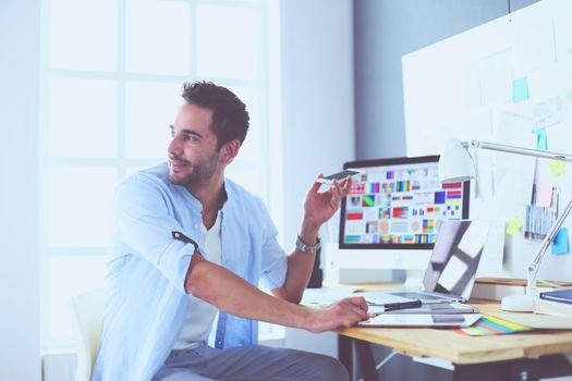
<instances>
[{"instance_id":1,"label":"seated bearded man in light blue shirt holding up a phone","mask_svg":"<svg viewBox=\"0 0 572 381\"><path fill-rule=\"evenodd\" d=\"M115 193L94 380L346 380L330 357L256 345L256 321L322 332L368 318L363 298L319 310L297 305L318 230L351 180L324 193L312 186L296 249L285 256L263 202L224 179L248 128L244 103L205 82L185 84L182 97L168 163Z\"/></svg>"}]
</instances>

